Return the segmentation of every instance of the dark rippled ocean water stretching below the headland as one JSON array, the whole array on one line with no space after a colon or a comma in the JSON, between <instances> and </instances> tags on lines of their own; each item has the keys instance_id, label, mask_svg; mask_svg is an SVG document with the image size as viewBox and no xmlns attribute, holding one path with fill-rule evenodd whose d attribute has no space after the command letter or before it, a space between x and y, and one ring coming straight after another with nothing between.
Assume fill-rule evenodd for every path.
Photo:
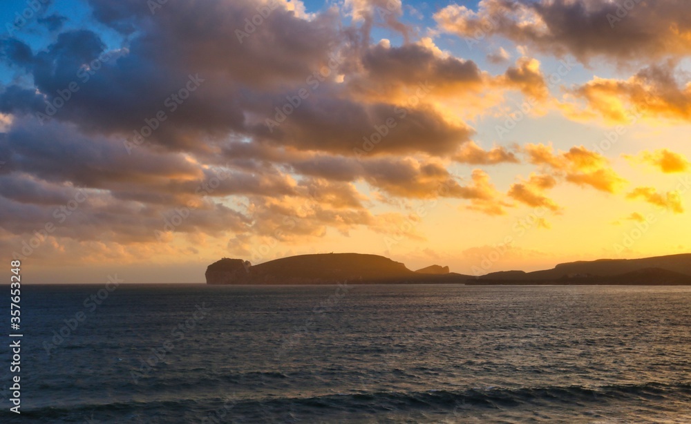
<instances>
[{"instance_id":1,"label":"dark rippled ocean water stretching below the headland","mask_svg":"<svg viewBox=\"0 0 691 424\"><path fill-rule=\"evenodd\" d=\"M22 294L2 423L691 422L691 287Z\"/></svg>"}]
</instances>

